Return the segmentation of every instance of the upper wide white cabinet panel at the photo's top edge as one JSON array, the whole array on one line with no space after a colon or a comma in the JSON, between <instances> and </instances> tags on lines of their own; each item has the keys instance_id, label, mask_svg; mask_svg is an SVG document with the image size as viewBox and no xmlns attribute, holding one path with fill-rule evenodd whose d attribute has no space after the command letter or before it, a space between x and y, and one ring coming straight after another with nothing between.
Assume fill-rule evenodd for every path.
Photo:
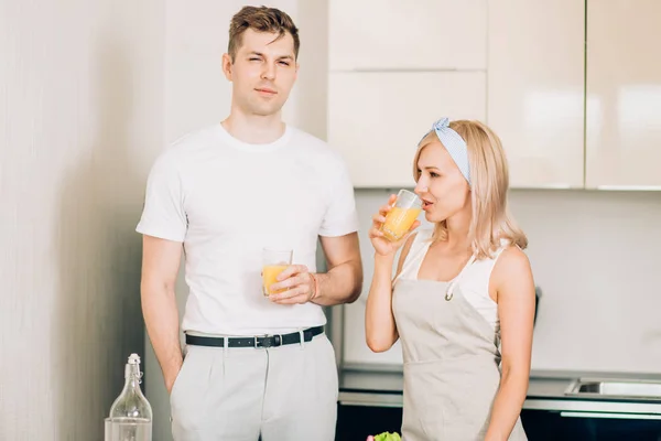
<instances>
[{"instance_id":1,"label":"upper wide white cabinet panel at the photo's top edge","mask_svg":"<svg viewBox=\"0 0 661 441\"><path fill-rule=\"evenodd\" d=\"M486 68L487 0L329 0L329 69Z\"/></svg>"}]
</instances>

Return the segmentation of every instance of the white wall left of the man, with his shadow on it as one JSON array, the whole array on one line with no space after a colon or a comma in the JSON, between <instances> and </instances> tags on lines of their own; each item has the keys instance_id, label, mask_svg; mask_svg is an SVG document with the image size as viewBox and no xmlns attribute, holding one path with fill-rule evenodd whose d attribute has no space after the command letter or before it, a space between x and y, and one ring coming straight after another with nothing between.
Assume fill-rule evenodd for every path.
<instances>
[{"instance_id":1,"label":"white wall left of the man, with his shadow on it","mask_svg":"<svg viewBox=\"0 0 661 441\"><path fill-rule=\"evenodd\" d=\"M101 440L143 354L162 35L155 0L0 1L0 440Z\"/></svg>"}]
</instances>

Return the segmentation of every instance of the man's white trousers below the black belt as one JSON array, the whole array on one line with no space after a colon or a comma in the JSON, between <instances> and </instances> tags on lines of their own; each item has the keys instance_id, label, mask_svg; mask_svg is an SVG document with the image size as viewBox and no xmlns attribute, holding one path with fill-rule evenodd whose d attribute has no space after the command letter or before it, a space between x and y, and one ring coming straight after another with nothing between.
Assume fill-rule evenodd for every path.
<instances>
[{"instance_id":1,"label":"man's white trousers below the black belt","mask_svg":"<svg viewBox=\"0 0 661 441\"><path fill-rule=\"evenodd\" d=\"M271 348L186 346L175 441L333 441L337 368L325 334Z\"/></svg>"}]
</instances>

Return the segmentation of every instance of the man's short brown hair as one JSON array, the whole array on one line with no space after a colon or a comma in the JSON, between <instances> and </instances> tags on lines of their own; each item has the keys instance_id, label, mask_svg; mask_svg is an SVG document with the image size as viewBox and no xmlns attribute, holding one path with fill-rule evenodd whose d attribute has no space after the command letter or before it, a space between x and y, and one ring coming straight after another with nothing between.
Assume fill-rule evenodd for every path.
<instances>
[{"instance_id":1,"label":"man's short brown hair","mask_svg":"<svg viewBox=\"0 0 661 441\"><path fill-rule=\"evenodd\" d=\"M294 21L285 12L275 8L267 7L243 7L237 12L229 24L229 44L227 52L234 62L239 47L243 32L252 29L257 32L271 32L279 34L279 39L289 32L294 39L294 57L299 57L299 29Z\"/></svg>"}]
</instances>

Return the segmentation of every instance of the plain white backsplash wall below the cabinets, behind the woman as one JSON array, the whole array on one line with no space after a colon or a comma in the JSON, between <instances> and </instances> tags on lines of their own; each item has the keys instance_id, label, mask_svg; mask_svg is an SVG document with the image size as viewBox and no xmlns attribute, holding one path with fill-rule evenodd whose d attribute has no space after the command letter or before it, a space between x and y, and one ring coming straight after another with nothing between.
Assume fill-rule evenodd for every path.
<instances>
[{"instance_id":1,"label":"plain white backsplash wall below the cabinets, behind the woman","mask_svg":"<svg viewBox=\"0 0 661 441\"><path fill-rule=\"evenodd\" d=\"M373 268L367 226L388 194L358 192L366 286L344 306L348 364L401 363L399 345L372 354L364 331ZM661 193L518 190L510 200L543 290L533 369L661 373Z\"/></svg>"}]
</instances>

